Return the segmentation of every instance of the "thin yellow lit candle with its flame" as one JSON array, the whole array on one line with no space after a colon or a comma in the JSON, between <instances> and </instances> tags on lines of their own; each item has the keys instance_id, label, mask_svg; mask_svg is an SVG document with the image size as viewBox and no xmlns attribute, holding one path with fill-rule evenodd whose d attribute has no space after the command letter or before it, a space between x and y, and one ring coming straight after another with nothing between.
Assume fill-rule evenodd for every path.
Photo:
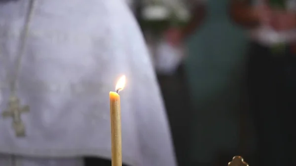
<instances>
[{"instance_id":1,"label":"thin yellow lit candle with its flame","mask_svg":"<svg viewBox=\"0 0 296 166\"><path fill-rule=\"evenodd\" d=\"M123 75L116 84L116 92L110 92L112 166L122 166L120 96L118 92L124 88L124 85L125 76Z\"/></svg>"}]
</instances>

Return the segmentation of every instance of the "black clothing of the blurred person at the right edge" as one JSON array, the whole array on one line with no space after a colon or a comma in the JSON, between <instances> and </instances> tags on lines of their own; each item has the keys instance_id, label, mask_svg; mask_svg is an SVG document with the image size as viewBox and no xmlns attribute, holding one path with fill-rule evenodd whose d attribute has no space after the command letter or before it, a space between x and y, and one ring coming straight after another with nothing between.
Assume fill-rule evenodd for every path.
<instances>
[{"instance_id":1,"label":"black clothing of the blurred person at the right edge","mask_svg":"<svg viewBox=\"0 0 296 166\"><path fill-rule=\"evenodd\" d=\"M296 135L296 54L250 44L248 91L260 166L292 166Z\"/></svg>"}]
</instances>

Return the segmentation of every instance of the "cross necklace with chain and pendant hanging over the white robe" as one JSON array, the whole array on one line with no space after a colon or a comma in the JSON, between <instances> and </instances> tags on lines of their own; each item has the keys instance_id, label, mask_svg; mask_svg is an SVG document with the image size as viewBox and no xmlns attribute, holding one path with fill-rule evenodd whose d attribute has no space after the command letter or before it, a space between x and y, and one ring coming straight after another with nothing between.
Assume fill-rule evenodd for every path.
<instances>
[{"instance_id":1,"label":"cross necklace with chain and pendant hanging over the white robe","mask_svg":"<svg viewBox=\"0 0 296 166\"><path fill-rule=\"evenodd\" d=\"M18 80L18 75L20 73L22 58L25 54L26 44L29 36L30 24L31 24L32 17L34 15L34 10L35 10L35 3L36 3L36 0L29 1L29 10L26 15L25 25L21 32L19 47L17 50L16 70L10 79L10 98L8 100L8 107L2 112L3 118L7 118L7 117L12 118L12 126L15 130L15 135L17 137L26 136L25 125L21 119L21 113L30 111L30 108L28 105L26 106L20 105L20 100L17 97L17 93L16 93L16 87L17 87L16 83Z\"/></svg>"}]
</instances>

